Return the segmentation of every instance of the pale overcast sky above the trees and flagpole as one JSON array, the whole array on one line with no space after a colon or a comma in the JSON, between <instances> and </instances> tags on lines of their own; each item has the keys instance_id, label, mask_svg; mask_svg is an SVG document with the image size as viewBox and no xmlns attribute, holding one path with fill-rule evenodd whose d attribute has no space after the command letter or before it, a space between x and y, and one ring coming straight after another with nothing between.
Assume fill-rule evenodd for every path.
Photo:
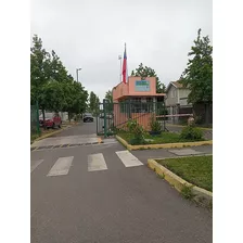
<instances>
[{"instance_id":1,"label":"pale overcast sky above the trees and flagpole","mask_svg":"<svg viewBox=\"0 0 243 243\"><path fill-rule=\"evenodd\" d=\"M127 43L128 73L140 63L167 85L188 62L197 29L213 42L212 0L31 0L31 37L54 50L68 73L100 99L120 78Z\"/></svg>"}]
</instances>

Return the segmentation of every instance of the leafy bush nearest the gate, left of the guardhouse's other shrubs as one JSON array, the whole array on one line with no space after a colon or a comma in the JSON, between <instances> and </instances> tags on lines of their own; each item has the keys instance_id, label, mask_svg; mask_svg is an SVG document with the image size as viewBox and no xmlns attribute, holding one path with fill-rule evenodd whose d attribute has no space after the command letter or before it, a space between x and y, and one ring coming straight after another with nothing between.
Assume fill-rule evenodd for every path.
<instances>
[{"instance_id":1,"label":"leafy bush nearest the gate, left of the guardhouse's other shrubs","mask_svg":"<svg viewBox=\"0 0 243 243\"><path fill-rule=\"evenodd\" d=\"M144 129L138 124L136 119L130 119L127 123L128 131L133 136L130 143L131 144L144 144Z\"/></svg>"}]
</instances>

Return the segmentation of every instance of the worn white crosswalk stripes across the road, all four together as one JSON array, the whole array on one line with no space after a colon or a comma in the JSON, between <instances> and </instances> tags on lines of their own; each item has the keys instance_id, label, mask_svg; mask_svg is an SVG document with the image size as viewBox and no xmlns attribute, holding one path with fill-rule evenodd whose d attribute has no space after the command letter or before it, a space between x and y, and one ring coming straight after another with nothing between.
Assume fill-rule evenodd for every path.
<instances>
[{"instance_id":1,"label":"worn white crosswalk stripes across the road, all four together","mask_svg":"<svg viewBox=\"0 0 243 243\"><path fill-rule=\"evenodd\" d=\"M122 163L124 167L136 167L143 165L135 155L132 155L129 151L117 151L115 152L117 162ZM71 167L75 166L74 162L75 156L66 156L66 157L59 157L57 159L53 161L52 167L49 167L49 171L47 171L47 177L57 177L57 176L65 176L69 174ZM87 157L84 159L78 158L81 163L85 163L87 166L87 171L99 171L99 170L107 170L108 164L105 161L105 156L103 153L94 153L88 154ZM107 159L107 157L106 157ZM117 162L113 162L117 163ZM34 159L30 164L30 172L36 170L44 164L44 159Z\"/></svg>"}]
</instances>

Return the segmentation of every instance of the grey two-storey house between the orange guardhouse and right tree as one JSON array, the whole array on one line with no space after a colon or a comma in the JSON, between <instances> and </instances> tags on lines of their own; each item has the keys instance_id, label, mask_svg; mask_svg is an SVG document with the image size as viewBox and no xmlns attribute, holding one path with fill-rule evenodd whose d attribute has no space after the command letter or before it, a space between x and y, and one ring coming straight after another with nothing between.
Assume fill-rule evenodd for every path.
<instances>
[{"instance_id":1,"label":"grey two-storey house between the orange guardhouse and right tree","mask_svg":"<svg viewBox=\"0 0 243 243\"><path fill-rule=\"evenodd\" d=\"M188 103L190 89L184 88L179 81L170 81L166 89L165 104L171 116L170 120L178 122L179 117L188 118L192 114L192 104ZM179 116L180 114L180 116Z\"/></svg>"}]
</instances>

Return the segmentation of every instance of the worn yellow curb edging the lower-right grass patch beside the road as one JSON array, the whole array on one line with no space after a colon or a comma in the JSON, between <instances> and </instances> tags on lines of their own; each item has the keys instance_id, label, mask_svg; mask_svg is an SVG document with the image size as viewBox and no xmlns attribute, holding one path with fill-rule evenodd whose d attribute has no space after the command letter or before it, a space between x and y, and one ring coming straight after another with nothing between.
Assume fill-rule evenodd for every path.
<instances>
[{"instance_id":1,"label":"worn yellow curb edging the lower-right grass patch beside the road","mask_svg":"<svg viewBox=\"0 0 243 243\"><path fill-rule=\"evenodd\" d=\"M204 155L208 156L208 155ZM159 158L165 159L165 158ZM213 203L213 193L203 189L199 188L192 183L189 183L188 181L183 180L182 178L178 177L176 174L171 172L166 167L158 164L155 159L148 159L148 166L153 169L157 175L162 176L166 181L169 182L178 192L181 192L181 190L184 187L190 187L193 193L193 200L206 207L210 207Z\"/></svg>"}]
</instances>

